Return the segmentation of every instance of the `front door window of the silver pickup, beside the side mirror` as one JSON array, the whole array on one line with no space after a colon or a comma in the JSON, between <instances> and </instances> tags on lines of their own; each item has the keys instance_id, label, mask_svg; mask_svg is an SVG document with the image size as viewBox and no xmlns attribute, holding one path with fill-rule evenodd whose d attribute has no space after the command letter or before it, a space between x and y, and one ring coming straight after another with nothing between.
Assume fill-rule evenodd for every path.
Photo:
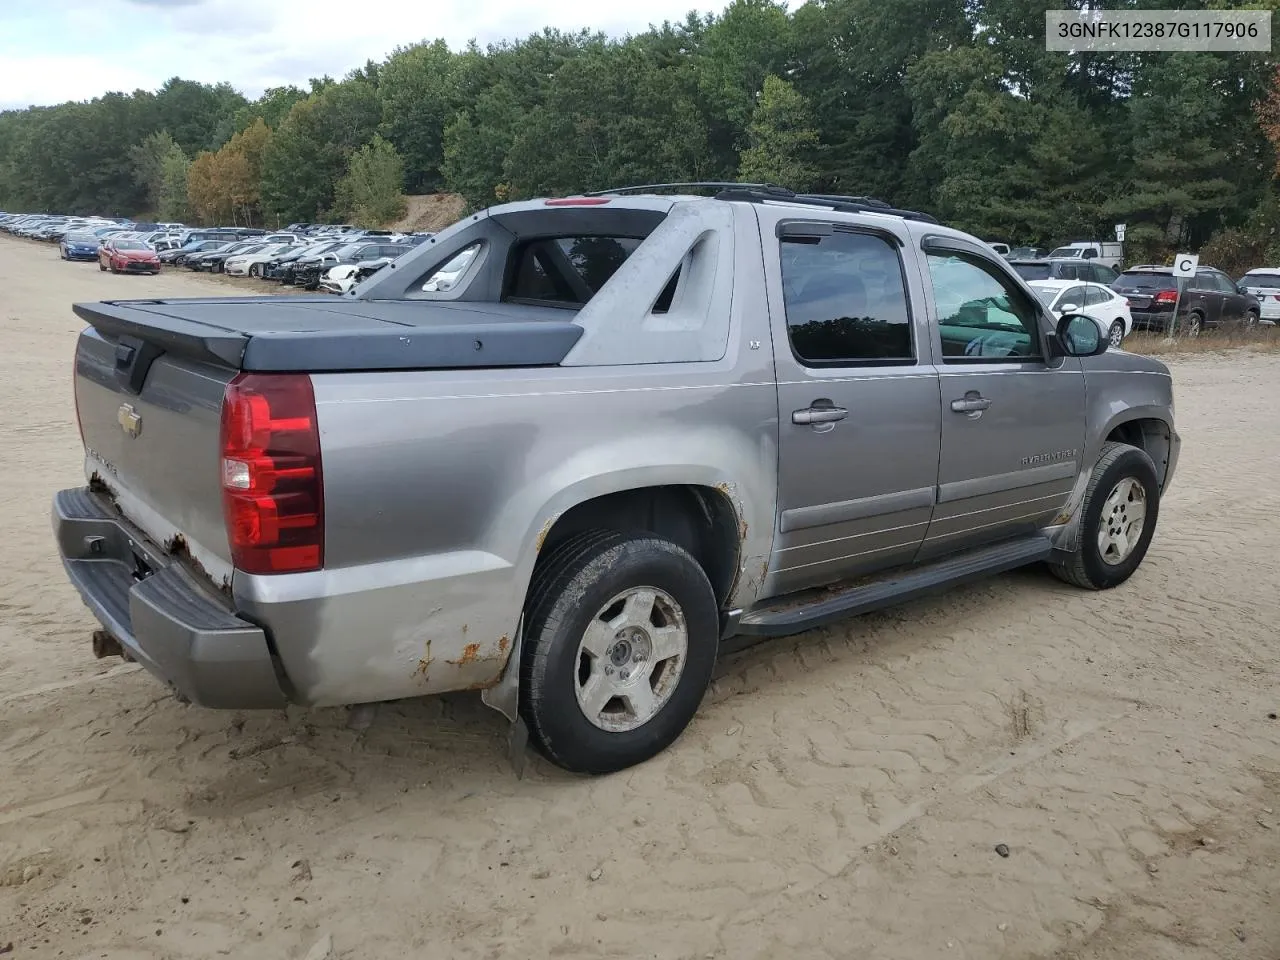
<instances>
[{"instance_id":1,"label":"front door window of the silver pickup, beside the side mirror","mask_svg":"<svg viewBox=\"0 0 1280 960\"><path fill-rule=\"evenodd\" d=\"M1039 311L1010 279L966 253L928 261L945 362L1041 357Z\"/></svg>"}]
</instances>

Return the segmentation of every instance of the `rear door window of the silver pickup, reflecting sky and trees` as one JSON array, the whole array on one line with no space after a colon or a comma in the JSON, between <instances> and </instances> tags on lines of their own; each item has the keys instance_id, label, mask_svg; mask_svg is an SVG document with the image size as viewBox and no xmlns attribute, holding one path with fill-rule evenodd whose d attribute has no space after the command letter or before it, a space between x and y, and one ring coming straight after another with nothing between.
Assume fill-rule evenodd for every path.
<instances>
[{"instance_id":1,"label":"rear door window of the silver pickup, reflecting sky and trees","mask_svg":"<svg viewBox=\"0 0 1280 960\"><path fill-rule=\"evenodd\" d=\"M897 251L874 234L782 239L782 301L809 364L910 364L911 312Z\"/></svg>"}]
</instances>

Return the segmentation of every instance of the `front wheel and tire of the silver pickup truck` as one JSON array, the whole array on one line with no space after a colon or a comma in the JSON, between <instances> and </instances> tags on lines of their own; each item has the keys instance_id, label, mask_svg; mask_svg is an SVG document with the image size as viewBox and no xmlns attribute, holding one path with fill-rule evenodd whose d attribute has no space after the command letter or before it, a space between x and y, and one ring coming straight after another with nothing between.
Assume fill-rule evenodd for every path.
<instances>
[{"instance_id":1,"label":"front wheel and tire of the silver pickup truck","mask_svg":"<svg viewBox=\"0 0 1280 960\"><path fill-rule=\"evenodd\" d=\"M1128 489L1126 489L1128 488ZM1133 535L1135 502L1143 504L1142 527L1137 541L1123 553L1115 541L1103 554L1103 531L1128 526ZM1106 443L1098 457L1080 507L1080 538L1075 553L1068 559L1050 564L1055 576L1085 590L1110 590L1133 576L1138 570L1160 518L1160 481L1151 457L1126 443ZM1107 538L1110 539L1110 538Z\"/></svg>"}]
</instances>

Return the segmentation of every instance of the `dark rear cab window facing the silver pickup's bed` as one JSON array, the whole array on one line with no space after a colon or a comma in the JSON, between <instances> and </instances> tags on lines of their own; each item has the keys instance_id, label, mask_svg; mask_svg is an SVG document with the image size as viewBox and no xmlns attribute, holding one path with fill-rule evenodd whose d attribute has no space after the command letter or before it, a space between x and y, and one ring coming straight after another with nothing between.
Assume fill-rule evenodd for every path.
<instances>
[{"instance_id":1,"label":"dark rear cab window facing the silver pickup's bed","mask_svg":"<svg viewBox=\"0 0 1280 960\"><path fill-rule=\"evenodd\" d=\"M549 237L530 241L516 253L507 298L586 303L640 242L636 237Z\"/></svg>"}]
</instances>

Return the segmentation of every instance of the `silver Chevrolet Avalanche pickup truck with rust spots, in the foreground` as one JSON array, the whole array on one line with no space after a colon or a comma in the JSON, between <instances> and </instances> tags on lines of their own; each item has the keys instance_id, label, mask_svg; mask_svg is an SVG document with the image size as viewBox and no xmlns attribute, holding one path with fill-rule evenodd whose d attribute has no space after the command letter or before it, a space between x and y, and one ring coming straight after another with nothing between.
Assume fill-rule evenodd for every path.
<instances>
[{"instance_id":1,"label":"silver Chevrolet Avalanche pickup truck with rust spots, in the foreground","mask_svg":"<svg viewBox=\"0 0 1280 960\"><path fill-rule=\"evenodd\" d=\"M338 298L76 305L99 655L218 708L481 690L604 773L731 637L1134 572L1164 365L924 214L675 186L492 207Z\"/></svg>"}]
</instances>

